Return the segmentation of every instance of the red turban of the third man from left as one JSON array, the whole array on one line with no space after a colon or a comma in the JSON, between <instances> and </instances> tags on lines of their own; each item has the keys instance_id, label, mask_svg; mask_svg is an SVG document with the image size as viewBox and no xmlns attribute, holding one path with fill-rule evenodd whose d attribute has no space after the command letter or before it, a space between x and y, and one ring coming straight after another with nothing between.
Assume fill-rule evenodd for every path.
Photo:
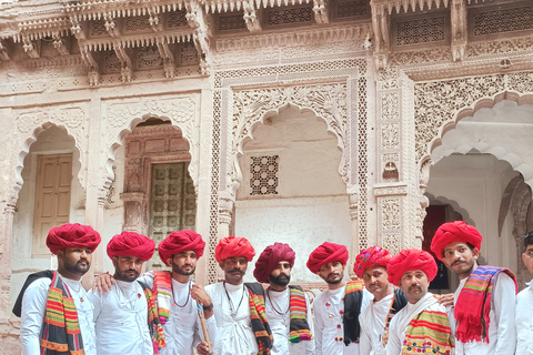
<instances>
[{"instance_id":1,"label":"red turban of the third man from left","mask_svg":"<svg viewBox=\"0 0 533 355\"><path fill-rule=\"evenodd\" d=\"M205 242L202 240L202 236L194 231L180 231L172 232L167 236L161 243L159 243L159 257L167 265L167 260L172 258L172 255L193 251L197 253L197 257L203 255L203 248L205 247Z\"/></svg>"}]
</instances>

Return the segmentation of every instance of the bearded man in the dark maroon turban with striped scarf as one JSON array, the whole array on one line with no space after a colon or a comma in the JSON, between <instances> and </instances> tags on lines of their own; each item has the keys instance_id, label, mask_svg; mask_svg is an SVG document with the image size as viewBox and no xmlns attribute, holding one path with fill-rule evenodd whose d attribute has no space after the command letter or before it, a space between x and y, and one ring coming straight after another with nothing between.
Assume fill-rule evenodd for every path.
<instances>
[{"instance_id":1,"label":"bearded man in the dark maroon turban with striped scarf","mask_svg":"<svg viewBox=\"0 0 533 355\"><path fill-rule=\"evenodd\" d=\"M290 285L295 253L289 244L274 243L259 255L253 275L269 283L265 313L272 328L272 355L314 354L309 298L303 288Z\"/></svg>"}]
</instances>

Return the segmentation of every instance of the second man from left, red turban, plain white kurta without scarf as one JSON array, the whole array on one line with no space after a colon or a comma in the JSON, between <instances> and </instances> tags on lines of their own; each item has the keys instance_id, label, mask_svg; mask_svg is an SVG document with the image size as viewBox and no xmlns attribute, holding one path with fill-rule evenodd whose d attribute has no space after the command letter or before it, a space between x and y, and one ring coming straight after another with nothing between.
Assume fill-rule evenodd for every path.
<instances>
[{"instance_id":1,"label":"second man from left, red turban, plain white kurta without scarf","mask_svg":"<svg viewBox=\"0 0 533 355\"><path fill-rule=\"evenodd\" d=\"M94 307L98 354L153 354L147 286L135 280L145 261L152 257L155 243L134 232L122 232L108 243L114 266L114 285L109 293L89 292ZM117 326L117 320L129 326ZM157 325L155 325L157 326ZM117 342L117 339L128 342Z\"/></svg>"}]
</instances>

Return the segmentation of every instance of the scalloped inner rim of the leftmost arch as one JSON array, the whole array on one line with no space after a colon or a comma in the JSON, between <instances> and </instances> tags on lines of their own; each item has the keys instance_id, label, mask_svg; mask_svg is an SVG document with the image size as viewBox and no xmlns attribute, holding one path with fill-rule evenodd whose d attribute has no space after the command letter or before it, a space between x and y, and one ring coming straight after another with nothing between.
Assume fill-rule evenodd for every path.
<instances>
[{"instance_id":1,"label":"scalloped inner rim of the leftmost arch","mask_svg":"<svg viewBox=\"0 0 533 355\"><path fill-rule=\"evenodd\" d=\"M16 168L14 168L14 186L13 186L13 193L16 195L18 195L20 189L22 189L22 184L23 184L23 179L22 179L22 170L24 169L24 159L26 156L28 155L28 153L30 152L30 148L31 145L37 142L37 140L39 139L39 134L41 134L42 132L49 130L50 128L52 126L57 126L61 130L64 130L64 132L71 136L74 141L74 148L78 152L78 154L73 154L72 158L76 158L78 155L78 163L80 164L80 166L82 166L82 169L79 170L78 172L78 181L80 182L81 186L84 189L84 185L83 185L83 181L84 181L84 175L83 175L83 172L84 172L84 169L83 169L83 162L81 160L81 152L83 151L83 149L81 146L79 146L80 142L78 142L78 140L76 139L76 135L72 134L71 131L69 131L69 128L64 124L58 124L58 123L54 123L54 122L51 122L51 121L46 121L43 122L42 124L38 125L37 128L34 128L32 131L31 131L31 135L30 136L27 136L26 140L23 140L21 143L22 145L22 149L21 151L19 151L19 153L17 154L17 164L16 164Z\"/></svg>"}]
</instances>

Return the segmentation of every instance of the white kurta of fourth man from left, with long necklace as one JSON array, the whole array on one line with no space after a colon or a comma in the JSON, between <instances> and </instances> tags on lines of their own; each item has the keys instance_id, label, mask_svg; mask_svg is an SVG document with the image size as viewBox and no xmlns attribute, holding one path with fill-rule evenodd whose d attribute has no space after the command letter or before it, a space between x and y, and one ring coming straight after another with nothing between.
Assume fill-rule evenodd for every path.
<instances>
[{"instance_id":1,"label":"white kurta of fourth man from left, with long necklace","mask_svg":"<svg viewBox=\"0 0 533 355\"><path fill-rule=\"evenodd\" d=\"M205 286L214 305L218 336L214 355L254 355L258 342L250 318L249 292L243 284L215 283ZM228 300L228 296L230 300ZM232 315L232 310L234 315Z\"/></svg>"}]
</instances>

